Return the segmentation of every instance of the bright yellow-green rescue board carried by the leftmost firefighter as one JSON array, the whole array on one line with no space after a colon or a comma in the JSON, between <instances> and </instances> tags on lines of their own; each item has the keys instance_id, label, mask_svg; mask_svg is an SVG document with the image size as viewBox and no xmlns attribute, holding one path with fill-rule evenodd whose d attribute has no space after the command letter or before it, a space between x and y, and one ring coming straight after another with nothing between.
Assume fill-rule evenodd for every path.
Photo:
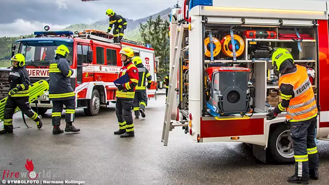
<instances>
[{"instance_id":1,"label":"bright yellow-green rescue board carried by the leftmost firefighter","mask_svg":"<svg viewBox=\"0 0 329 185\"><path fill-rule=\"evenodd\" d=\"M45 80L39 80L38 82L31 84L29 90L30 90L29 102L32 103L35 100L37 100L38 97L40 97L41 95L43 95L49 90L49 84ZM7 98L8 96L0 100L0 121L3 121ZM17 107L15 109L14 114L18 111L20 111L20 109Z\"/></svg>"}]
</instances>

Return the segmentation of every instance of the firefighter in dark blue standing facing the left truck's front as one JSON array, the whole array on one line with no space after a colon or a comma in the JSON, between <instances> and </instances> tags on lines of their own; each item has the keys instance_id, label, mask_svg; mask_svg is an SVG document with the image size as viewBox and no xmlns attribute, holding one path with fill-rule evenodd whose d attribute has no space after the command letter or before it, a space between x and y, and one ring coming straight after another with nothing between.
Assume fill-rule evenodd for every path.
<instances>
[{"instance_id":1,"label":"firefighter in dark blue standing facing the left truck's front","mask_svg":"<svg viewBox=\"0 0 329 185\"><path fill-rule=\"evenodd\" d=\"M49 64L49 100L53 102L53 112L51 113L53 134L61 134L60 129L61 114L63 104L65 110L65 132L79 132L80 129L72 125L75 114L75 93L71 86L70 76L73 70L69 66L66 57L70 53L65 45L60 45L56 49L56 57Z\"/></svg>"}]
</instances>

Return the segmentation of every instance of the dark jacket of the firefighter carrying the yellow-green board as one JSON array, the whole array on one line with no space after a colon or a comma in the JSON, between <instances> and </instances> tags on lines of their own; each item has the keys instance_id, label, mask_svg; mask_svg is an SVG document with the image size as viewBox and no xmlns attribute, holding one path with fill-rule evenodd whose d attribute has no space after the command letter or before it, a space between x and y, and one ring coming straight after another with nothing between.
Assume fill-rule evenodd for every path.
<instances>
[{"instance_id":1,"label":"dark jacket of the firefighter carrying the yellow-green board","mask_svg":"<svg viewBox=\"0 0 329 185\"><path fill-rule=\"evenodd\" d=\"M18 92L11 97L19 98L29 96L30 77L25 66L14 67L9 73L9 90L17 87Z\"/></svg>"}]
</instances>

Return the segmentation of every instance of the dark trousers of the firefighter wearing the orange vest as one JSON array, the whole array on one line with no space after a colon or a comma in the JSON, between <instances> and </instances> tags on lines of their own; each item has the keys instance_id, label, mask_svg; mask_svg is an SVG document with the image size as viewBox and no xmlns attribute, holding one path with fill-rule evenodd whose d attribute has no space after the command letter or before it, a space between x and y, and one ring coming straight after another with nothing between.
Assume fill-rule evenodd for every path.
<instances>
[{"instance_id":1,"label":"dark trousers of the firefighter wearing the orange vest","mask_svg":"<svg viewBox=\"0 0 329 185\"><path fill-rule=\"evenodd\" d=\"M319 168L319 157L314 141L316 117L299 122L290 122L291 138L295 158L295 175L308 177Z\"/></svg>"}]
</instances>

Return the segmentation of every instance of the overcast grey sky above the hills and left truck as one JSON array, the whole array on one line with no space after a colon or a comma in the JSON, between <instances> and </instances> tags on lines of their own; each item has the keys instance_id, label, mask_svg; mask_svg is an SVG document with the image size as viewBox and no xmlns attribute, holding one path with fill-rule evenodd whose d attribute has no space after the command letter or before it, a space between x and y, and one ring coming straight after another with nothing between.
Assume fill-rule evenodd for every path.
<instances>
[{"instance_id":1,"label":"overcast grey sky above the hills and left truck","mask_svg":"<svg viewBox=\"0 0 329 185\"><path fill-rule=\"evenodd\" d=\"M177 0L0 0L0 37L29 35L45 25L55 31L71 24L90 24L107 18L108 8L136 20L176 3Z\"/></svg>"}]
</instances>

